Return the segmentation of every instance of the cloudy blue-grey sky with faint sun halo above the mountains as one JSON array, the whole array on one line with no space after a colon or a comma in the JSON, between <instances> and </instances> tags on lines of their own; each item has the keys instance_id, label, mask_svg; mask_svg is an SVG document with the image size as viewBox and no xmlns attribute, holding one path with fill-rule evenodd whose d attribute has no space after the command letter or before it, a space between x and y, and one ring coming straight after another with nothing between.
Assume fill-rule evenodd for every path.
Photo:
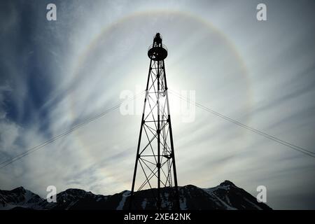
<instances>
[{"instance_id":1,"label":"cloudy blue-grey sky with faint sun halo above the mountains","mask_svg":"<svg viewBox=\"0 0 315 224\"><path fill-rule=\"evenodd\" d=\"M55 3L57 20L46 19ZM265 3L267 21L256 6ZM314 1L1 1L0 162L145 90L160 32L170 90L314 152ZM179 186L230 180L274 209L315 209L315 160L195 108L170 113ZM144 95L134 100L142 108ZM112 111L0 169L0 189L45 197L130 190L141 114Z\"/></svg>"}]
</instances>

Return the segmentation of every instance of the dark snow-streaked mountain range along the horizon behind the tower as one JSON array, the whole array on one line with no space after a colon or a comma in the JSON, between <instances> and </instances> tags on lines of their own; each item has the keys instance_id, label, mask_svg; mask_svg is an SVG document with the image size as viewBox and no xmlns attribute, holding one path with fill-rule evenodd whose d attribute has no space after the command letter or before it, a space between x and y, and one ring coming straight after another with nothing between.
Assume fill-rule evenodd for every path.
<instances>
[{"instance_id":1,"label":"dark snow-streaked mountain range along the horizon behind the tower","mask_svg":"<svg viewBox=\"0 0 315 224\"><path fill-rule=\"evenodd\" d=\"M155 201L149 197L149 190L141 190L137 206L134 209L151 210L155 208ZM162 207L168 197L168 191L162 188ZM57 202L47 202L38 195L24 188L0 190L1 209L129 209L130 191L125 190L115 195L94 195L80 189L68 189L56 195ZM257 202L256 198L245 190L238 188L231 181L224 181L215 188L197 188L188 185L179 187L181 210L234 210L234 209L271 209L267 204ZM172 209L167 208L165 209Z\"/></svg>"}]
</instances>

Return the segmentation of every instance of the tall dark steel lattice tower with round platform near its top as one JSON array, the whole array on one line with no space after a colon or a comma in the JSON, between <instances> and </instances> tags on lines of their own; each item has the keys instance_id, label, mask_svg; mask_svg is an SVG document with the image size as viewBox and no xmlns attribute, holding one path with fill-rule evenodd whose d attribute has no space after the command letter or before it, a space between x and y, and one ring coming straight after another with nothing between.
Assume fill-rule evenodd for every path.
<instances>
[{"instance_id":1,"label":"tall dark steel lattice tower with round platform near its top","mask_svg":"<svg viewBox=\"0 0 315 224\"><path fill-rule=\"evenodd\" d=\"M141 118L137 157L132 180L130 208L139 209L139 190L148 189L151 208L179 209L171 116L164 59L167 48L156 34L148 48L151 59ZM137 177L137 178L136 178ZM136 184L137 182L137 184ZM155 204L153 204L155 203Z\"/></svg>"}]
</instances>

